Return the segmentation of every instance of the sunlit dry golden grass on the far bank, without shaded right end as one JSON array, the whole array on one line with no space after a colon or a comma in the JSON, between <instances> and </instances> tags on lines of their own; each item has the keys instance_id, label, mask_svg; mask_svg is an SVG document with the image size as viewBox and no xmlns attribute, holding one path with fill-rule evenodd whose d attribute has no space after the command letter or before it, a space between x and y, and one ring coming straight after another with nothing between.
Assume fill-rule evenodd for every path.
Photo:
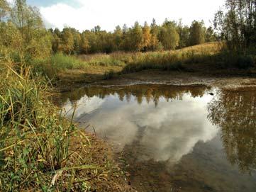
<instances>
[{"instance_id":1,"label":"sunlit dry golden grass on the far bank, without shaded right end","mask_svg":"<svg viewBox=\"0 0 256 192\"><path fill-rule=\"evenodd\" d=\"M130 73L143 69L182 69L181 62L201 62L208 55L214 55L221 50L221 43L205 43L182 50L162 52L113 52L110 55L79 55L80 64L73 67L65 67L65 64L57 64L60 69L52 69L49 64L43 64L48 74L60 83L91 82L100 79L109 79L113 73ZM68 57L68 56L64 56ZM74 60L75 57L73 57ZM63 61L62 59L60 61ZM68 59L67 59L68 60ZM68 65L72 65L69 63ZM53 72L55 71L55 72Z\"/></svg>"}]
</instances>

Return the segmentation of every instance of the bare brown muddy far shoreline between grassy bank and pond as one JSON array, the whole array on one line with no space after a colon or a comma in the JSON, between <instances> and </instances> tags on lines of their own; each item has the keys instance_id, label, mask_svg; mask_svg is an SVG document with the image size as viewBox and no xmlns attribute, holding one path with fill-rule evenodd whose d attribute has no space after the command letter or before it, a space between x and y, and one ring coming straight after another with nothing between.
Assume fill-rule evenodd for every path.
<instances>
[{"instance_id":1,"label":"bare brown muddy far shoreline between grassy bank and pond","mask_svg":"<svg viewBox=\"0 0 256 192\"><path fill-rule=\"evenodd\" d=\"M83 86L128 86L134 84L168 84L168 85L205 85L224 89L256 86L256 74L204 74L201 72L163 72L145 70L132 74L116 76L108 80L60 82L55 87L57 92L68 92Z\"/></svg>"}]
</instances>

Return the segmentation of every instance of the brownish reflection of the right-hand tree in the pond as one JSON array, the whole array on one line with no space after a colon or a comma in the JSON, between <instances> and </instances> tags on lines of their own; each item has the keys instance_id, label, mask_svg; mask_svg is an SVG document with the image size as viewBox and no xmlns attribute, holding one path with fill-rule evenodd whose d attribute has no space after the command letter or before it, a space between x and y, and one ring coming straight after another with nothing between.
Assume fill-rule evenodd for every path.
<instances>
[{"instance_id":1,"label":"brownish reflection of the right-hand tree in the pond","mask_svg":"<svg viewBox=\"0 0 256 192\"><path fill-rule=\"evenodd\" d=\"M256 89L221 90L208 105L208 119L221 128L231 164L241 171L256 168Z\"/></svg>"}]
</instances>

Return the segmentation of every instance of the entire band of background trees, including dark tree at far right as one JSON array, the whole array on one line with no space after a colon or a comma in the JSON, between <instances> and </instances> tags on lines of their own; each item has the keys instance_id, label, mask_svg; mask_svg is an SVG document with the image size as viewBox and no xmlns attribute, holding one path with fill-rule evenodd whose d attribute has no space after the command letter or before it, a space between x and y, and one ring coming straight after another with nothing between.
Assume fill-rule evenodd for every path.
<instances>
[{"instance_id":1,"label":"entire band of background trees, including dark tree at far right","mask_svg":"<svg viewBox=\"0 0 256 192\"><path fill-rule=\"evenodd\" d=\"M98 52L147 52L174 50L191 45L225 40L231 52L255 50L256 44L256 0L226 1L223 10L216 13L214 29L206 28L203 21L193 21L184 26L182 21L165 20L123 28L117 26L113 32L96 26L80 33L74 28L45 29L37 8L28 6L26 0L16 0L10 6L0 1L0 48L9 50L16 60L48 57L52 53L68 55Z\"/></svg>"}]
</instances>

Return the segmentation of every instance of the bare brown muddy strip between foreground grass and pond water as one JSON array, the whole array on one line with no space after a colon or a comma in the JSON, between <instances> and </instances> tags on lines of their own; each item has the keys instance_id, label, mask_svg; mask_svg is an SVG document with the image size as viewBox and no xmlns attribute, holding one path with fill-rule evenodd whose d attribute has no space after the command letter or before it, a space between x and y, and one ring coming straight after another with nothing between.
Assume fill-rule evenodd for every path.
<instances>
[{"instance_id":1,"label":"bare brown muddy strip between foreground grass and pond water","mask_svg":"<svg viewBox=\"0 0 256 192\"><path fill-rule=\"evenodd\" d=\"M82 130L82 132L84 131ZM77 170L79 176L86 178L84 181L80 181L84 183L84 188L89 191L99 192L135 192L135 189L129 184L128 173L121 171L123 164L115 161L111 146L97 138L94 134L89 132L84 132L84 134L89 137L90 142L90 145L87 146L87 150L77 148L81 138L76 137L72 137L71 139L72 150L79 152L82 157L91 157L91 162L88 162L88 164L95 164L96 166L106 168L104 172L95 172L90 169ZM74 183L74 187L78 184L79 183Z\"/></svg>"}]
</instances>

